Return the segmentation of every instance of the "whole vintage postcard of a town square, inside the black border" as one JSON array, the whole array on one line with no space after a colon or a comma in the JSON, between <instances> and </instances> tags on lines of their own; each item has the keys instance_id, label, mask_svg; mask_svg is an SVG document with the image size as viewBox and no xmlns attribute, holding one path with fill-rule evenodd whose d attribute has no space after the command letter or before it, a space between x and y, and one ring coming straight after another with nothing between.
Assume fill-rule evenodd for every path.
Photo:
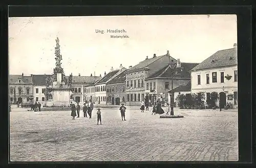
<instances>
[{"instance_id":1,"label":"whole vintage postcard of a town square, inside the black border","mask_svg":"<svg viewBox=\"0 0 256 168\"><path fill-rule=\"evenodd\" d=\"M163 29L165 18L177 26ZM124 28L97 33L119 30L104 17L10 18L10 161L237 161L236 17L107 20ZM165 34L139 38L125 20ZM86 31L75 26L85 21Z\"/></svg>"}]
</instances>

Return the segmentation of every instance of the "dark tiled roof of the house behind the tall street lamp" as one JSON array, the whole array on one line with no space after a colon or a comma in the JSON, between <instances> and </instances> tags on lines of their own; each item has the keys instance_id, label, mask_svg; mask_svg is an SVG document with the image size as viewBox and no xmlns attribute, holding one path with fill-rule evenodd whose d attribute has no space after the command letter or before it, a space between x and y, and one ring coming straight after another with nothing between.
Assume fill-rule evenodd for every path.
<instances>
[{"instance_id":1,"label":"dark tiled roof of the house behind the tall street lamp","mask_svg":"<svg viewBox=\"0 0 256 168\"><path fill-rule=\"evenodd\" d=\"M198 63L183 63L181 62L181 68L176 68L177 73L175 73L174 78L190 78L189 70L197 66ZM152 76L146 78L172 78L173 69L166 65L164 68L157 71Z\"/></svg>"}]
</instances>

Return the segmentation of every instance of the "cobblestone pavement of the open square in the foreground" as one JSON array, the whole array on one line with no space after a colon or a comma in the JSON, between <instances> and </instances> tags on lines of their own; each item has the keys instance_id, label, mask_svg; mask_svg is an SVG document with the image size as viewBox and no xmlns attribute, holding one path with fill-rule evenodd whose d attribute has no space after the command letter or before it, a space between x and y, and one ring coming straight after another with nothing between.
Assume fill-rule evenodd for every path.
<instances>
[{"instance_id":1,"label":"cobblestone pavement of the open square in the foreground","mask_svg":"<svg viewBox=\"0 0 256 168\"><path fill-rule=\"evenodd\" d=\"M236 161L238 114L181 110L184 118L159 118L127 107L102 109L72 120L70 111L10 112L11 161Z\"/></svg>"}]
</instances>

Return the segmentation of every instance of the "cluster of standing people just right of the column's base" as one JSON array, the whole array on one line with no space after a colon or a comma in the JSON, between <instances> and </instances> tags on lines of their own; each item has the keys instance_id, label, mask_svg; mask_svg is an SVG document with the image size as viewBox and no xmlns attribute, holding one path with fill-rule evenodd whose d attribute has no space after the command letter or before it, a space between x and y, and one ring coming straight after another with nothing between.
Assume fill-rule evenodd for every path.
<instances>
[{"instance_id":1,"label":"cluster of standing people just right of the column's base","mask_svg":"<svg viewBox=\"0 0 256 168\"><path fill-rule=\"evenodd\" d=\"M75 119L76 113L77 113L77 118L79 118L80 117L79 103L77 103L77 105L75 105L71 102L70 107L71 107L71 116L73 117L72 119ZM83 108L82 108L83 117L87 117L87 114L88 114L89 118L92 118L93 108L94 108L94 105L91 100L89 102L84 103Z\"/></svg>"}]
</instances>

